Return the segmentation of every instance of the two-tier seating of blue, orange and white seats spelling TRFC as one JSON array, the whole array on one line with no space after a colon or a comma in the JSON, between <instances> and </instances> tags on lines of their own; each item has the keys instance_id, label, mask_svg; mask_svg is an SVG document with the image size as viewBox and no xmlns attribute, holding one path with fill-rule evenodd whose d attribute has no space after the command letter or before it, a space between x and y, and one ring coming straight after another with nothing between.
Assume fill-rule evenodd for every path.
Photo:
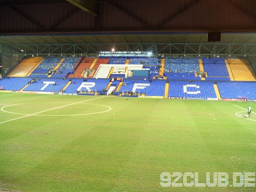
<instances>
[{"instance_id":1,"label":"two-tier seating of blue, orange and white seats spelling TRFC","mask_svg":"<svg viewBox=\"0 0 256 192\"><path fill-rule=\"evenodd\" d=\"M129 61L127 62L127 60ZM170 79L169 81L155 80L161 76L161 68L165 70L162 79L167 77ZM47 77L49 69L56 73ZM197 72L201 69L206 72L205 81L201 81L202 78L197 76ZM89 78L84 78L85 72ZM117 77L123 78L124 81L116 81ZM32 78L42 79L28 84ZM114 83L109 82L109 78L114 78ZM141 80L146 78L150 80ZM103 88L111 87L111 90L115 90L115 94L121 95L125 92L126 95L128 92L130 94L136 92L138 95L140 92L145 96L164 98L255 99L255 82L248 81L256 81L256 79L250 64L244 59L29 57L21 61L7 77L1 79L0 86L3 86L4 90L11 91L63 92L67 94L80 90L96 90L98 93L102 93ZM56 85L54 85L55 83Z\"/></svg>"}]
</instances>

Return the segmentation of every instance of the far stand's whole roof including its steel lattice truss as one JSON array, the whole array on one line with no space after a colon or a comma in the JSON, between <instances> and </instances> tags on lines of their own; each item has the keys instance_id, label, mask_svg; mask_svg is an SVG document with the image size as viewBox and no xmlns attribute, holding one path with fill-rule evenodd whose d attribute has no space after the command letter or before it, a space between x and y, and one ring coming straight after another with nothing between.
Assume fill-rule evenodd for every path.
<instances>
[{"instance_id":1,"label":"far stand's whole roof including its steel lattice truss","mask_svg":"<svg viewBox=\"0 0 256 192\"><path fill-rule=\"evenodd\" d=\"M207 33L81 33L47 35L1 36L0 44L11 49L38 49L49 45L70 49L74 45L84 52L100 53L111 51L151 51L155 54L252 54L256 51L255 33L222 33L220 42L208 42ZM69 46L70 45L70 46ZM64 48L63 48L64 46ZM31 48L33 47L33 48ZM85 48L86 47L86 48ZM88 51L89 47L89 51ZM171 48L171 50L170 50ZM41 48L39 48L41 49ZM44 48L45 49L45 48ZM50 48L49 48L50 49ZM86 50L85 50L86 49ZM72 51L73 50L73 51ZM68 54L80 53L70 49ZM27 52L29 54L29 52ZM59 53L59 52L58 52ZM47 54L47 52L45 52ZM51 52L51 54L54 54Z\"/></svg>"}]
</instances>

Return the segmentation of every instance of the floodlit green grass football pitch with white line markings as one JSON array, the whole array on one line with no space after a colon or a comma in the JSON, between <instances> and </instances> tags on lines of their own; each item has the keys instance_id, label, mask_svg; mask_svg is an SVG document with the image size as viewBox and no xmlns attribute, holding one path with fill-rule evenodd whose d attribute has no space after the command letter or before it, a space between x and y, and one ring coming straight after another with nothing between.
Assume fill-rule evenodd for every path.
<instances>
[{"instance_id":1,"label":"floodlit green grass football pitch with white line markings","mask_svg":"<svg viewBox=\"0 0 256 192\"><path fill-rule=\"evenodd\" d=\"M255 172L256 114L237 115L256 103L14 93L0 100L0 191L255 190L162 187L160 174L198 172L205 183L206 172Z\"/></svg>"}]
</instances>

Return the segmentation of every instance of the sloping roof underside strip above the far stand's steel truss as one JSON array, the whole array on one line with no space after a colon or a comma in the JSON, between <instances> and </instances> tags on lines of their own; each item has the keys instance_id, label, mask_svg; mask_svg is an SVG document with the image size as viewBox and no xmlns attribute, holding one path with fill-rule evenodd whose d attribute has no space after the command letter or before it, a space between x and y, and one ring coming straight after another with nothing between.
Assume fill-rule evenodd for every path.
<instances>
[{"instance_id":1,"label":"sloping roof underside strip above the far stand's steel truss","mask_svg":"<svg viewBox=\"0 0 256 192\"><path fill-rule=\"evenodd\" d=\"M207 33L81 33L0 36L0 44L208 43ZM255 33L222 33L220 43L255 44Z\"/></svg>"}]
</instances>

